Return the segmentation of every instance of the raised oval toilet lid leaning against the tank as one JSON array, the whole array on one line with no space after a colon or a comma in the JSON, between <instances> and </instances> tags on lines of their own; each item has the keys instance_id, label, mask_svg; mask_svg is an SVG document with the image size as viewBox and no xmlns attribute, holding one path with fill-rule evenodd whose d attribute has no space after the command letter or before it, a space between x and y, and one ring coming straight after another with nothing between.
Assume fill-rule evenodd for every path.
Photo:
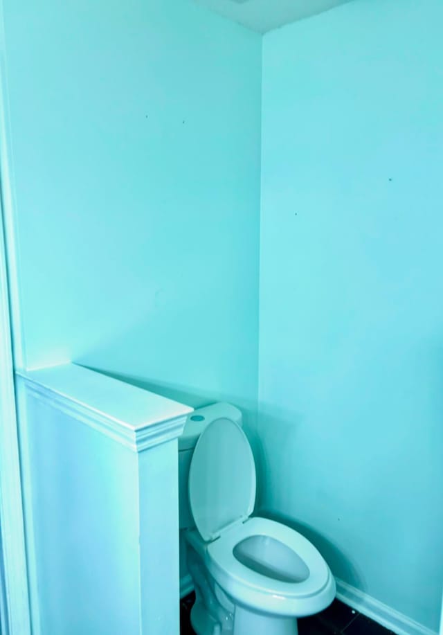
<instances>
[{"instance_id":1,"label":"raised oval toilet lid leaning against the tank","mask_svg":"<svg viewBox=\"0 0 443 635\"><path fill-rule=\"evenodd\" d=\"M230 419L211 422L201 433L189 472L189 501L201 537L214 540L255 503L255 464L244 431Z\"/></svg>"}]
</instances>

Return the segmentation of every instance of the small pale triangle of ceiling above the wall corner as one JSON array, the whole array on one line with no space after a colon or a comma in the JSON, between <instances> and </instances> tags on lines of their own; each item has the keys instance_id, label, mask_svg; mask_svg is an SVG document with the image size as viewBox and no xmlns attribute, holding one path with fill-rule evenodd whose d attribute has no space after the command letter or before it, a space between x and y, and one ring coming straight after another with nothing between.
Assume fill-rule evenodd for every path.
<instances>
[{"instance_id":1,"label":"small pale triangle of ceiling above the wall corner","mask_svg":"<svg viewBox=\"0 0 443 635\"><path fill-rule=\"evenodd\" d=\"M309 15L321 13L349 0L194 0L225 17L244 26L266 33L300 20Z\"/></svg>"}]
</instances>

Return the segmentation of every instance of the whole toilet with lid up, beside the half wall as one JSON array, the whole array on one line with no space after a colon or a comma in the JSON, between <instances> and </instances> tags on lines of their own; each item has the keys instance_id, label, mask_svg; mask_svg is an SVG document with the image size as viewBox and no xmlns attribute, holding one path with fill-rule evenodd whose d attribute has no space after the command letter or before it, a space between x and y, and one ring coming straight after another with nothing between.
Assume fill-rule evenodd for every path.
<instances>
[{"instance_id":1,"label":"whole toilet with lid up, beside the half wall","mask_svg":"<svg viewBox=\"0 0 443 635\"><path fill-rule=\"evenodd\" d=\"M192 627L198 635L296 635L297 618L334 600L334 577L300 533L251 516L255 464L241 413L214 404L192 417L200 428L186 501L195 527L184 532Z\"/></svg>"}]
</instances>

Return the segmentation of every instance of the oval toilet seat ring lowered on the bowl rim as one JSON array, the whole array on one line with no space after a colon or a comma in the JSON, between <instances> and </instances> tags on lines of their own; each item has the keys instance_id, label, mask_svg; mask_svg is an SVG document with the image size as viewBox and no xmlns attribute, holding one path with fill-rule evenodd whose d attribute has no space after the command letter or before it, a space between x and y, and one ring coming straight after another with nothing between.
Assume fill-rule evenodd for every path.
<instances>
[{"instance_id":1,"label":"oval toilet seat ring lowered on the bowl rim","mask_svg":"<svg viewBox=\"0 0 443 635\"><path fill-rule=\"evenodd\" d=\"M253 536L269 537L291 549L309 569L307 579L275 580L239 562L234 555L235 546ZM260 517L231 527L210 543L206 566L221 588L237 602L280 615L315 613L317 605L324 602L322 591L328 592L333 585L325 560L309 540L286 525Z\"/></svg>"}]
</instances>

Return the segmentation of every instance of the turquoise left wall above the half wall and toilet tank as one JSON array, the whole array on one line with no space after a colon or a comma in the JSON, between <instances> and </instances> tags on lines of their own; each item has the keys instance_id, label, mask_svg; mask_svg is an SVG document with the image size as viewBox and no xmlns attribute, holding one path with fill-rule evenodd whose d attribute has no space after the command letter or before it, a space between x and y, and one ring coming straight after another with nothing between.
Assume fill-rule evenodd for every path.
<instances>
[{"instance_id":1,"label":"turquoise left wall above the half wall and toilet tank","mask_svg":"<svg viewBox=\"0 0 443 635\"><path fill-rule=\"evenodd\" d=\"M25 359L257 399L261 38L183 0L4 0Z\"/></svg>"}]
</instances>

